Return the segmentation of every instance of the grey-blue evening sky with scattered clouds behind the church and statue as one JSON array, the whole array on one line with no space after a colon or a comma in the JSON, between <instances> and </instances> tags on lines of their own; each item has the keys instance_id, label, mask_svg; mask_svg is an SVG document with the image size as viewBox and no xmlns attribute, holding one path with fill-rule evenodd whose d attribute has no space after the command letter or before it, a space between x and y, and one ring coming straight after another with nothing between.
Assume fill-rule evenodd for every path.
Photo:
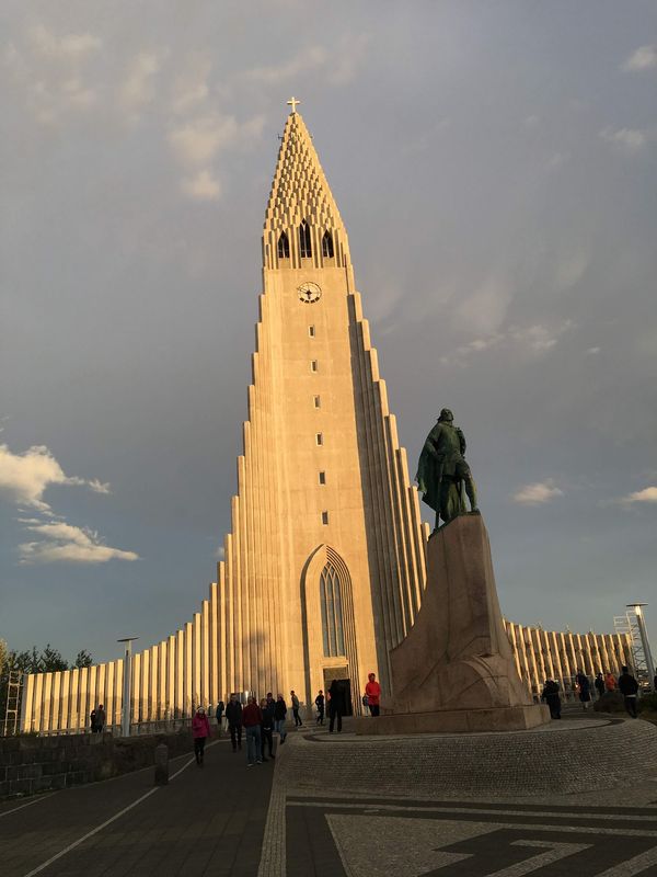
<instances>
[{"instance_id":1,"label":"grey-blue evening sky with scattered clouds behind the church and statue","mask_svg":"<svg viewBox=\"0 0 657 877\"><path fill-rule=\"evenodd\" d=\"M411 476L451 408L507 617L641 600L657 638L654 2L5 0L0 34L10 647L112 659L207 596L292 94Z\"/></svg>"}]
</instances>

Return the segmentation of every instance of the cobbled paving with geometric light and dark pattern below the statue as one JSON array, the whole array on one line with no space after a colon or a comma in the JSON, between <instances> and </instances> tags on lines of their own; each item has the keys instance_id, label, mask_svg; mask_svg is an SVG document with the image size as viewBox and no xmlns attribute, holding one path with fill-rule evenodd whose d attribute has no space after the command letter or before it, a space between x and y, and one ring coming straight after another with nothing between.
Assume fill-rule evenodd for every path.
<instances>
[{"instance_id":1,"label":"cobbled paving with geometric light and dark pattern below the statue","mask_svg":"<svg viewBox=\"0 0 657 877\"><path fill-rule=\"evenodd\" d=\"M528 732L383 745L349 733L299 734L277 768L258 877L657 877L654 730L573 716L529 732L531 742ZM585 745L595 770L580 767ZM511 782L491 782L510 756L480 761L481 781L472 764L456 766L459 754L499 756L506 747L516 753ZM633 748L648 753L647 764ZM528 759L532 749L550 759L550 782L546 765ZM448 774L449 783L436 783Z\"/></svg>"}]
</instances>

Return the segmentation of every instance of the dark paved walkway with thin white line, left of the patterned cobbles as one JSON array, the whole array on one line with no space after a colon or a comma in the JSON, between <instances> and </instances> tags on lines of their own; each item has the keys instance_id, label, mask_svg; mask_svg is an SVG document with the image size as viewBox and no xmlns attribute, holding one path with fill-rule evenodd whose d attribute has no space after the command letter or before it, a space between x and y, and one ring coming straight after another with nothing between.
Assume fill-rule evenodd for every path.
<instances>
[{"instance_id":1,"label":"dark paved walkway with thin white line, left of the patterned cobbles","mask_svg":"<svg viewBox=\"0 0 657 877\"><path fill-rule=\"evenodd\" d=\"M149 768L23 804L5 801L0 875L253 877L274 763L246 767L245 752L233 754L226 741L206 751L203 768L188 762L172 761L165 787L153 786Z\"/></svg>"}]
</instances>

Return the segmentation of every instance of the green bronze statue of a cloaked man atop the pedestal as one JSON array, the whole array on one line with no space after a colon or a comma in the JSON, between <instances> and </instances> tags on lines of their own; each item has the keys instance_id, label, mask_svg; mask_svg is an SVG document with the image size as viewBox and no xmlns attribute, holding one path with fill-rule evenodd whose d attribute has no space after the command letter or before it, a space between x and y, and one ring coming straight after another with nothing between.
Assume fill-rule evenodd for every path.
<instances>
[{"instance_id":1,"label":"green bronze statue of a cloaked man atop the pedestal","mask_svg":"<svg viewBox=\"0 0 657 877\"><path fill-rule=\"evenodd\" d=\"M476 488L464 458L465 436L453 425L453 419L449 408L443 408L424 443L415 476L423 500L436 512L436 529L440 519L447 524L457 515L465 514L463 485L470 510L479 511Z\"/></svg>"}]
</instances>

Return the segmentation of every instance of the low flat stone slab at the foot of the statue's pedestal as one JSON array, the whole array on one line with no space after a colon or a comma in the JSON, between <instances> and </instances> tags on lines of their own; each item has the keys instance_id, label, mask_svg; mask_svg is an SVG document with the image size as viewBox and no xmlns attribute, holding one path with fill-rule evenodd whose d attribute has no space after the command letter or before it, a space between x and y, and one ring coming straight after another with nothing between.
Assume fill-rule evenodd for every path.
<instances>
[{"instance_id":1,"label":"low flat stone slab at the foot of the statue's pedestal","mask_svg":"<svg viewBox=\"0 0 657 877\"><path fill-rule=\"evenodd\" d=\"M543 705L493 707L491 709L439 709L357 718L358 734L466 733L476 731L528 731L550 721Z\"/></svg>"}]
</instances>

